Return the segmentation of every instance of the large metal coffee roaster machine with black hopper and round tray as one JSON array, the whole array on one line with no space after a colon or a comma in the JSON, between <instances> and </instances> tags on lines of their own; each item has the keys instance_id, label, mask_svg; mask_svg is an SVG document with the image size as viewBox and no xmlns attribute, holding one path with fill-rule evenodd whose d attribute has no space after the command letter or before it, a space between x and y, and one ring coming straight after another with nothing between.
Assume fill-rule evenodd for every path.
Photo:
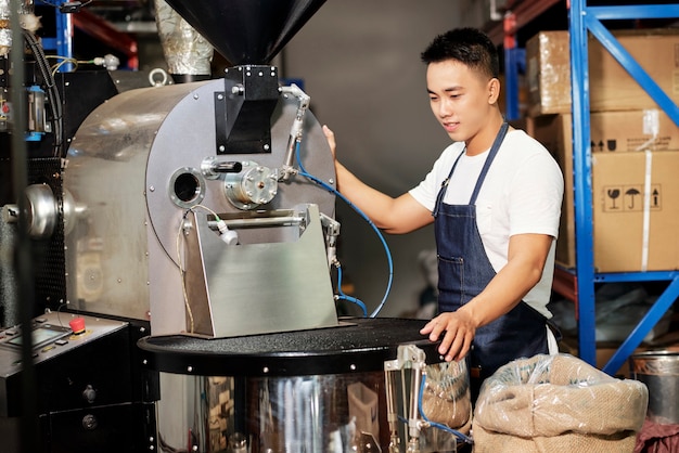
<instances>
[{"instance_id":1,"label":"large metal coffee roaster machine with black hopper and round tray","mask_svg":"<svg viewBox=\"0 0 679 453\"><path fill-rule=\"evenodd\" d=\"M5 193L0 244L29 219L46 452L470 441L422 411L425 388L447 409L469 400L464 363L441 364L422 321L337 316L332 154L309 96L270 64L323 1L168 0L232 64L202 81L121 90L107 72L52 75L34 49L26 85L43 101L28 111L46 120L28 142L27 208ZM4 315L9 432L25 327Z\"/></svg>"}]
</instances>

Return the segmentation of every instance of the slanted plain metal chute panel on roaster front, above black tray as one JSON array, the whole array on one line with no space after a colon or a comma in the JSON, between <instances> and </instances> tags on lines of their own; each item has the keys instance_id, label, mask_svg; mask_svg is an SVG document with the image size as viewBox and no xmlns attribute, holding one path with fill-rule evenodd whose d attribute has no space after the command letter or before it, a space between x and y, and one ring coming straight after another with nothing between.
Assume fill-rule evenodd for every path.
<instances>
[{"instance_id":1,"label":"slanted plain metal chute panel on roaster front, above black tray","mask_svg":"<svg viewBox=\"0 0 679 453\"><path fill-rule=\"evenodd\" d=\"M284 217L293 215L303 221L273 226L283 241L241 245L220 241L206 215L190 216L190 333L225 337L337 325L318 207L298 206Z\"/></svg>"}]
</instances>

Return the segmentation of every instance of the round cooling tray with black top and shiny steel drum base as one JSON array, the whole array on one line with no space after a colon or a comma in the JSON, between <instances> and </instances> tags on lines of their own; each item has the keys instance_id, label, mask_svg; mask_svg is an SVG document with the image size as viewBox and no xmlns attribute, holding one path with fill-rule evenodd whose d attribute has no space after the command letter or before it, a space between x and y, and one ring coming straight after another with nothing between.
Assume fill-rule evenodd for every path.
<instances>
[{"instance_id":1,"label":"round cooling tray with black top and shiny steel drum base","mask_svg":"<svg viewBox=\"0 0 679 453\"><path fill-rule=\"evenodd\" d=\"M161 372L167 398L159 406L175 410L161 411L162 443L230 452L238 437L248 452L386 452L409 442L421 452L454 452L457 437L411 409L422 401L432 422L471 425L464 362L440 362L438 344L419 334L424 320L343 321L311 331L141 339L144 366ZM426 386L417 388L424 373Z\"/></svg>"}]
</instances>

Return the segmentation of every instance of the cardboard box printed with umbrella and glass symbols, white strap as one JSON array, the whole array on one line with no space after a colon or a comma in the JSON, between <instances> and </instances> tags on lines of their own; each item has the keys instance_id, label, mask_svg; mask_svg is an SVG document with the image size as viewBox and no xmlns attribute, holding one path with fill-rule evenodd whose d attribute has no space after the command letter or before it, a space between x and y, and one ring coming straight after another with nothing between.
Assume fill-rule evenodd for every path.
<instances>
[{"instance_id":1,"label":"cardboard box printed with umbrella and glass symbols, white strap","mask_svg":"<svg viewBox=\"0 0 679 453\"><path fill-rule=\"evenodd\" d=\"M594 268L679 269L678 151L592 155Z\"/></svg>"}]
</instances>

